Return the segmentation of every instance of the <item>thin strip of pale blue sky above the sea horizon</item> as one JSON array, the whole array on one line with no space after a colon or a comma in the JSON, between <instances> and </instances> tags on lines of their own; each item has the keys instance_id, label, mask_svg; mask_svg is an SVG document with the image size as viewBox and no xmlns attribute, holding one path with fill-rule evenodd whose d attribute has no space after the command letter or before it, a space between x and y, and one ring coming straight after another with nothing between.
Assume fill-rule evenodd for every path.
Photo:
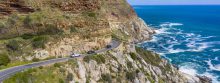
<instances>
[{"instance_id":1,"label":"thin strip of pale blue sky above the sea horizon","mask_svg":"<svg viewBox=\"0 0 220 83\"><path fill-rule=\"evenodd\" d=\"M131 5L220 5L220 0L127 0Z\"/></svg>"}]
</instances>

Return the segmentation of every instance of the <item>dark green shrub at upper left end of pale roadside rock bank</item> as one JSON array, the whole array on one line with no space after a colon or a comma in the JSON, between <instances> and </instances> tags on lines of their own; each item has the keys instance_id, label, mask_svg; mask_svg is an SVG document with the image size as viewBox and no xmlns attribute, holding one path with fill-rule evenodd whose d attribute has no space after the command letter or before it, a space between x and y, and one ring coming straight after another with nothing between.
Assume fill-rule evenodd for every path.
<instances>
[{"instance_id":1,"label":"dark green shrub at upper left end of pale roadside rock bank","mask_svg":"<svg viewBox=\"0 0 220 83\"><path fill-rule=\"evenodd\" d=\"M45 48L45 44L48 42L49 37L47 36L38 36L33 39L32 46L34 48Z\"/></svg>"}]
</instances>

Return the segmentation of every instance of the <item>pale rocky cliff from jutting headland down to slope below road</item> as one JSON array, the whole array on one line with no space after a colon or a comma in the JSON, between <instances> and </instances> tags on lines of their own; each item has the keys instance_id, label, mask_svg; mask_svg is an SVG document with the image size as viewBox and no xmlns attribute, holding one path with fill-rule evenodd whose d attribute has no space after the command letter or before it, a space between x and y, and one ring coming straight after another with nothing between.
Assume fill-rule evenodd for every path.
<instances>
[{"instance_id":1,"label":"pale rocky cliff from jutting headland down to slope below road","mask_svg":"<svg viewBox=\"0 0 220 83\"><path fill-rule=\"evenodd\" d=\"M129 36L114 50L86 56L62 68L73 74L71 83L209 83L181 73L159 55L136 47L135 42L149 40L154 31L140 18L111 22L111 29Z\"/></svg>"}]
</instances>

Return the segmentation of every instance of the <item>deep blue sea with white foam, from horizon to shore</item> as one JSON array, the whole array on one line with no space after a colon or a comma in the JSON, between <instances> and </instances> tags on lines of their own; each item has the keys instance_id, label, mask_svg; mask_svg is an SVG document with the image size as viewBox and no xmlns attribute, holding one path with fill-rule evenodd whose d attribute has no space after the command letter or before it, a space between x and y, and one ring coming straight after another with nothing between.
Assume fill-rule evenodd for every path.
<instances>
[{"instance_id":1,"label":"deep blue sea with white foam, from horizon to shore","mask_svg":"<svg viewBox=\"0 0 220 83\"><path fill-rule=\"evenodd\" d=\"M220 6L133 6L156 29L141 44L191 75L220 83Z\"/></svg>"}]
</instances>

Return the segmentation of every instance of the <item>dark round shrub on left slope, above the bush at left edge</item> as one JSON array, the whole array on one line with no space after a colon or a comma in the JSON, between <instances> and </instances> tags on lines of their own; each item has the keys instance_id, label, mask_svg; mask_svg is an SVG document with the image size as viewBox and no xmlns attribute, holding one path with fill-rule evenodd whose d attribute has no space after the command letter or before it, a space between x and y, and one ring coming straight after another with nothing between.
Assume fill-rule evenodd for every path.
<instances>
[{"instance_id":1,"label":"dark round shrub on left slope, above the bush at left edge","mask_svg":"<svg viewBox=\"0 0 220 83\"><path fill-rule=\"evenodd\" d=\"M10 40L7 43L6 47L9 48L10 50L18 51L20 48L20 44L17 40Z\"/></svg>"}]
</instances>

